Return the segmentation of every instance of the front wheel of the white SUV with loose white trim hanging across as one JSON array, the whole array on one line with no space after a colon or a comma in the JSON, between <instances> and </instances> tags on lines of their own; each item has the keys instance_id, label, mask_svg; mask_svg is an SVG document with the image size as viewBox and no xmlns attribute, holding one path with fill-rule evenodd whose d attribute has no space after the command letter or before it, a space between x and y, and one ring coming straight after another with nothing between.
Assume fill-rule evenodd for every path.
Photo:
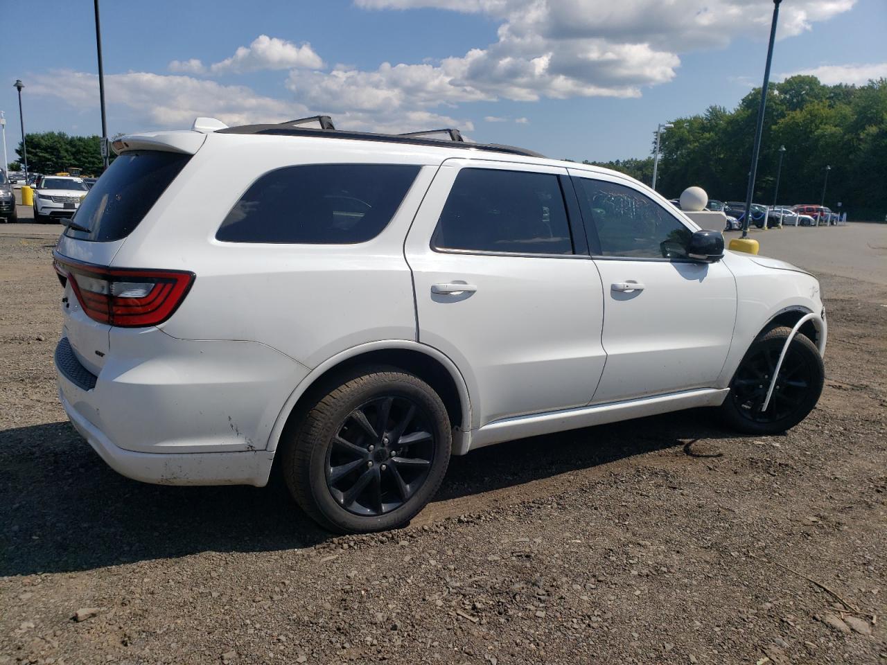
<instances>
[{"instance_id":1,"label":"front wheel of the white SUV with loose white trim hanging across","mask_svg":"<svg viewBox=\"0 0 887 665\"><path fill-rule=\"evenodd\" d=\"M720 406L722 417L734 429L746 434L778 434L805 419L819 401L825 365L816 345L798 333L782 362L767 411L761 411L790 333L785 326L765 332L742 358L730 382L730 393Z\"/></svg>"}]
</instances>

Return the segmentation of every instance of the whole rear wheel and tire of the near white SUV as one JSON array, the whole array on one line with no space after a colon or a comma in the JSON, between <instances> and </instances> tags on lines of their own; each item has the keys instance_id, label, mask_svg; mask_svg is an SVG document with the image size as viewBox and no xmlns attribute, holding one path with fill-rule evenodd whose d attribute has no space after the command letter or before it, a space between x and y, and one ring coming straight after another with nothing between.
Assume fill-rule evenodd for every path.
<instances>
[{"instance_id":1,"label":"whole rear wheel and tire of the near white SUV","mask_svg":"<svg viewBox=\"0 0 887 665\"><path fill-rule=\"evenodd\" d=\"M284 443L296 502L322 527L366 533L399 527L443 481L451 426L436 392L396 368L365 368L319 395Z\"/></svg>"}]
</instances>

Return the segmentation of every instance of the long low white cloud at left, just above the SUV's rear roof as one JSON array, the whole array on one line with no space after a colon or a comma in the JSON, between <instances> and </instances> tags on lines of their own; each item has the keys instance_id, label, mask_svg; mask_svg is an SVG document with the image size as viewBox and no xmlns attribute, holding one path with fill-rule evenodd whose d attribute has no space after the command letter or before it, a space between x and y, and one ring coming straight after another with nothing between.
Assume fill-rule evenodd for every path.
<instances>
[{"instance_id":1,"label":"long low white cloud at left, just above the SUV's rear roof","mask_svg":"<svg viewBox=\"0 0 887 665\"><path fill-rule=\"evenodd\" d=\"M59 98L76 109L95 108L98 103L96 74L56 70L35 76L28 88L32 95ZM200 115L239 125L282 122L307 114L302 105L256 95L246 86L181 75L106 74L105 95L112 110L114 106L127 109L125 114L133 125L115 131L184 129Z\"/></svg>"}]
</instances>

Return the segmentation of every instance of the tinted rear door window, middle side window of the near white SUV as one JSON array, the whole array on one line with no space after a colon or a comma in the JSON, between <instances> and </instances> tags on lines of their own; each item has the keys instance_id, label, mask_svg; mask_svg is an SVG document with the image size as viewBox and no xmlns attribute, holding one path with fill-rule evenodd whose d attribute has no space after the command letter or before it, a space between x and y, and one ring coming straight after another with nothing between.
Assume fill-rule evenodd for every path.
<instances>
[{"instance_id":1,"label":"tinted rear door window, middle side window of the near white SUV","mask_svg":"<svg viewBox=\"0 0 887 665\"><path fill-rule=\"evenodd\" d=\"M558 177L463 168L443 206L432 244L481 252L572 254Z\"/></svg>"}]
</instances>

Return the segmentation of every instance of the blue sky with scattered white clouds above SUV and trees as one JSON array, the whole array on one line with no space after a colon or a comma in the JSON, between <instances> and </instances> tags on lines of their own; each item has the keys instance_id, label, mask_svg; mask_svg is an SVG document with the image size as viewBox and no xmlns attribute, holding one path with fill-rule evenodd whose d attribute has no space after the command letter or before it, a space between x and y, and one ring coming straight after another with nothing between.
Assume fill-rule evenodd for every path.
<instances>
[{"instance_id":1,"label":"blue sky with scattered white clouds above SUV and trees","mask_svg":"<svg viewBox=\"0 0 887 665\"><path fill-rule=\"evenodd\" d=\"M23 5L0 6L8 18ZM734 108L760 85L772 12L771 0L104 0L108 134L326 113L339 129L456 127L559 159L644 157L658 123ZM10 160L16 79L27 132L101 134L93 4L44 0L39 13L0 23ZM784 0L779 26L776 81L887 77L887 0Z\"/></svg>"}]
</instances>

